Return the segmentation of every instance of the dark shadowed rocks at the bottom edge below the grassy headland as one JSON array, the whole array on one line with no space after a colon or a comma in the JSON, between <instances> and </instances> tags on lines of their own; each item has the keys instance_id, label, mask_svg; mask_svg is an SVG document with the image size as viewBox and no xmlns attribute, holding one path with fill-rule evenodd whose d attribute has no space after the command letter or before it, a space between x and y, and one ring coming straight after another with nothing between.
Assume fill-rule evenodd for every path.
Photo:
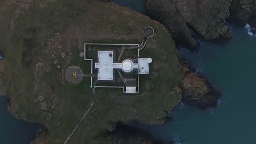
<instances>
[{"instance_id":1,"label":"dark shadowed rocks at the bottom edge below the grassy headland","mask_svg":"<svg viewBox=\"0 0 256 144\"><path fill-rule=\"evenodd\" d=\"M164 144L161 140L155 140L147 131L123 124L118 124L108 137L112 144Z\"/></svg>"}]
</instances>

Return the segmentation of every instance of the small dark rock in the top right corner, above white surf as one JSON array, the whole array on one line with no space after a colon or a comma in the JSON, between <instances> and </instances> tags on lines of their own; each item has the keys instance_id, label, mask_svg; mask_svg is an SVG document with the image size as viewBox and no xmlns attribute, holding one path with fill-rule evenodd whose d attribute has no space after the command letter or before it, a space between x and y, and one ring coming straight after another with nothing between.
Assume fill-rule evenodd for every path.
<instances>
[{"instance_id":1,"label":"small dark rock in the top right corner, above white surf","mask_svg":"<svg viewBox=\"0 0 256 144\"><path fill-rule=\"evenodd\" d=\"M230 5L230 22L238 26L250 23L256 26L256 1L255 0L232 0Z\"/></svg>"}]
</instances>

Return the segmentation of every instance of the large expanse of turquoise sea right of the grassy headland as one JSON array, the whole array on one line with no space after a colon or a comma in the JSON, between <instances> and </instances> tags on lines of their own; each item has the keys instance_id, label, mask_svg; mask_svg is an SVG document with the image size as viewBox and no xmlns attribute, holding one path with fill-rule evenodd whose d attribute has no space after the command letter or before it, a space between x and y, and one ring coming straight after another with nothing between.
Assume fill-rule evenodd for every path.
<instances>
[{"instance_id":1,"label":"large expanse of turquoise sea right of the grassy headland","mask_svg":"<svg viewBox=\"0 0 256 144\"><path fill-rule=\"evenodd\" d=\"M136 4L142 1L126 6L138 9ZM120 5L127 3L118 2ZM232 27L232 31L234 36L228 44L202 41L199 52L180 50L197 73L207 77L222 93L216 108L202 111L180 104L172 113L171 122L161 126L133 126L147 130L165 142L256 143L256 37L249 35L244 28Z\"/></svg>"}]
</instances>

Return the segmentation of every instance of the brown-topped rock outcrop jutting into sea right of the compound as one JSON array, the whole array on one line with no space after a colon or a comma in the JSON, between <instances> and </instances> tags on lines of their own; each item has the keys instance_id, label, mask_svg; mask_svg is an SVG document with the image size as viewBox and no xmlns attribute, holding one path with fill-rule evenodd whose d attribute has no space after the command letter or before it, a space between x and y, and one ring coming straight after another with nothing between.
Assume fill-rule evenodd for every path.
<instances>
[{"instance_id":1,"label":"brown-topped rock outcrop jutting into sea right of the compound","mask_svg":"<svg viewBox=\"0 0 256 144\"><path fill-rule=\"evenodd\" d=\"M184 69L187 73L180 85L183 91L182 99L189 104L198 105L201 109L216 106L220 93L215 91L206 79L202 79L188 68Z\"/></svg>"}]
</instances>

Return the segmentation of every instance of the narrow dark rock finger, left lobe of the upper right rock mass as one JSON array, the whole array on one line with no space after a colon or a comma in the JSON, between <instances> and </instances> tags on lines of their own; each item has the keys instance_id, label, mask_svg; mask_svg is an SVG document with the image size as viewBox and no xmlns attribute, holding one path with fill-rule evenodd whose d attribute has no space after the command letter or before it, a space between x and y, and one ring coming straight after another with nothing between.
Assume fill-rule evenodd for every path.
<instances>
[{"instance_id":1,"label":"narrow dark rock finger, left lobe of the upper right rock mass","mask_svg":"<svg viewBox=\"0 0 256 144\"><path fill-rule=\"evenodd\" d=\"M166 26L177 47L187 47L193 51L199 48L199 43L191 35L190 28L172 1L146 0L146 8L150 17Z\"/></svg>"}]
</instances>

